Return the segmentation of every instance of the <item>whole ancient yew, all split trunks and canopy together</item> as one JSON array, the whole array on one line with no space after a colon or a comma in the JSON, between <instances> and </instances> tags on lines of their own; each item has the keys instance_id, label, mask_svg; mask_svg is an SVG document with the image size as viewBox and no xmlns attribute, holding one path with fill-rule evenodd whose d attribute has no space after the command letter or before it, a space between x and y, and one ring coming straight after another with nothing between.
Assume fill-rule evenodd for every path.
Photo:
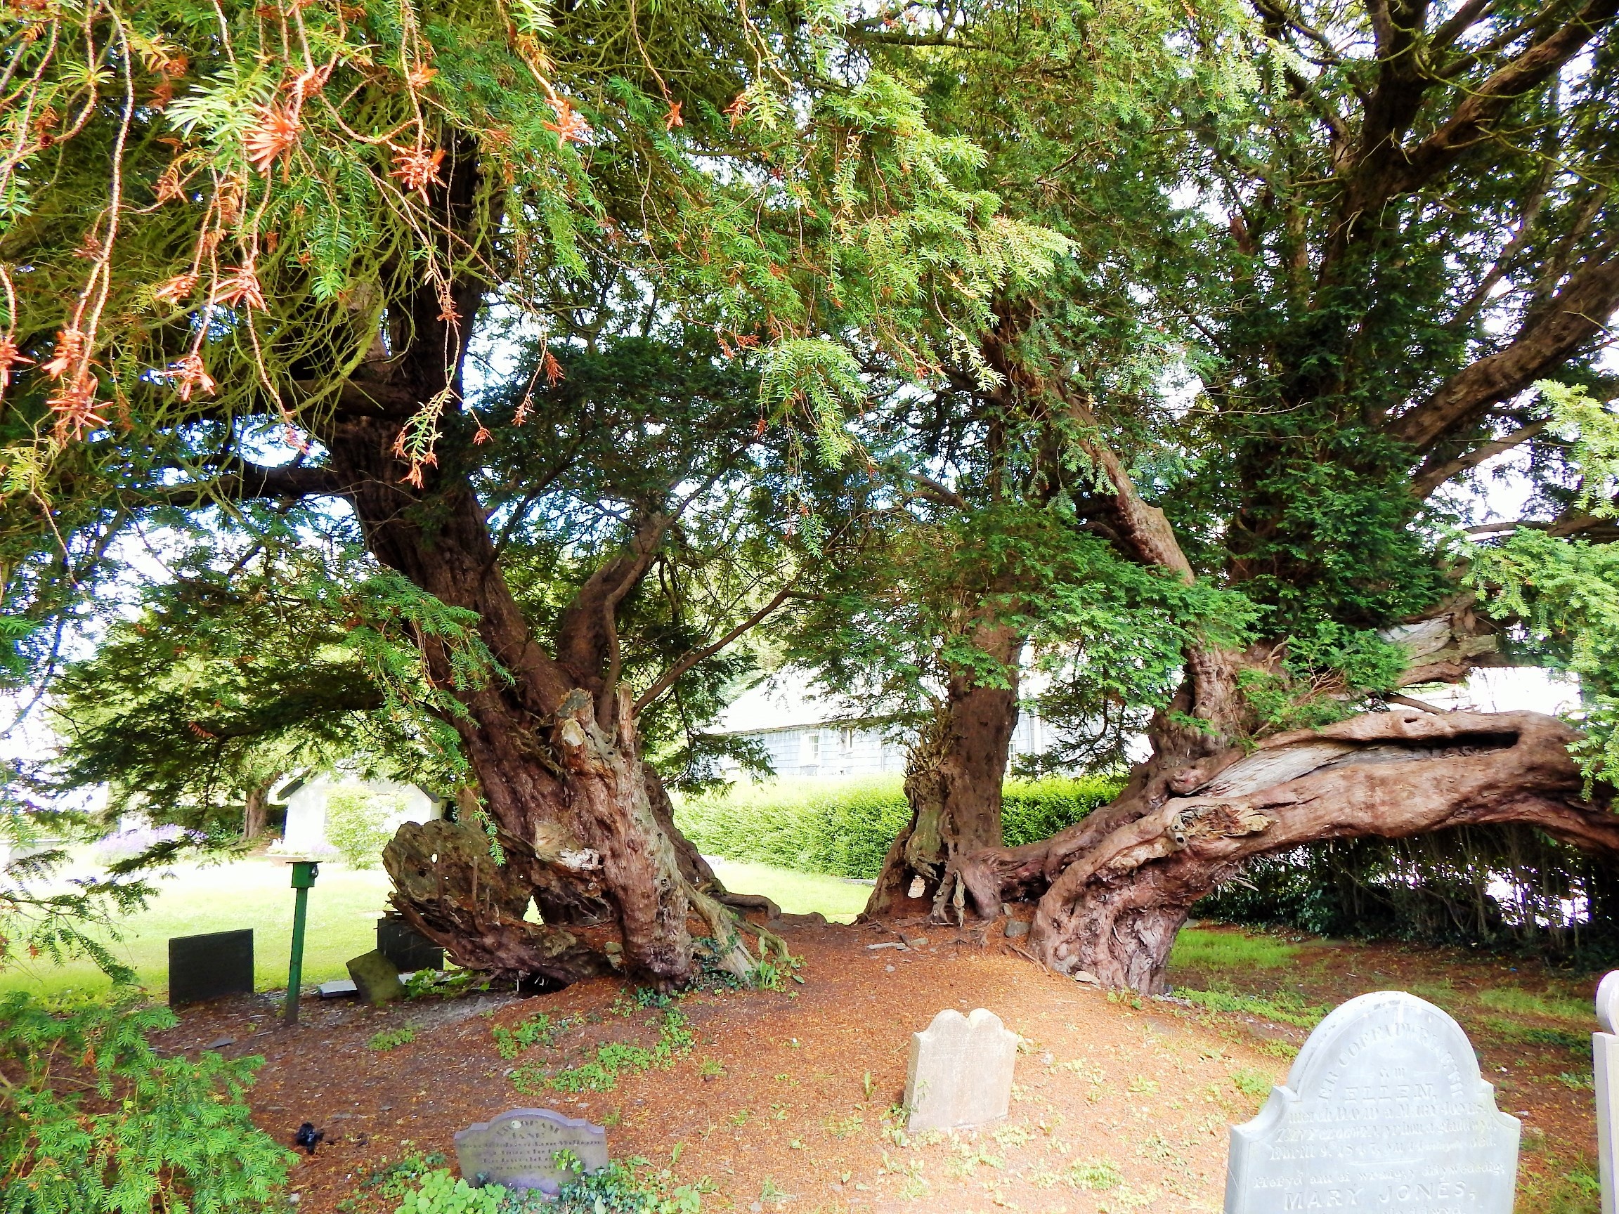
<instances>
[{"instance_id":1,"label":"whole ancient yew, all split trunks and canopy together","mask_svg":"<svg viewBox=\"0 0 1619 1214\"><path fill-rule=\"evenodd\" d=\"M400 911L557 981L746 968L644 743L701 766L769 622L934 704L873 910L1031 900L1065 973L1156 989L1311 840L1613 853L1616 10L19 10L6 636L49 685L183 550L79 703L121 678L209 762L296 696L380 714L460 806L390 847ZM1502 458L1528 516L1455 533ZM280 651L222 639L254 613ZM1400 691L1507 644L1582 673L1585 738ZM178 715L162 646L209 672ZM1151 753L1009 850L1030 657L1075 758Z\"/></svg>"}]
</instances>

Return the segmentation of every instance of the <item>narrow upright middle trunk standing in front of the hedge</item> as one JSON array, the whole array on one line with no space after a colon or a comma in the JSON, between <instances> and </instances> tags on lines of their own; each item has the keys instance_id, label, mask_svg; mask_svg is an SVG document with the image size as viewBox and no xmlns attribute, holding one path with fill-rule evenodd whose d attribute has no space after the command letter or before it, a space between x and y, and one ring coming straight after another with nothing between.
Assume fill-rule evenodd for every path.
<instances>
[{"instance_id":1,"label":"narrow upright middle trunk standing in front of the hedge","mask_svg":"<svg viewBox=\"0 0 1619 1214\"><path fill-rule=\"evenodd\" d=\"M905 769L911 821L895 837L866 902L868 918L894 915L920 900L933 918L962 921L965 887L957 856L1001 845L1001 785L1018 714L1018 657L1025 636L1002 623L981 623L973 643L1007 672L1007 686L976 681L973 672L950 675L944 704L913 743ZM920 879L920 898L911 898Z\"/></svg>"}]
</instances>

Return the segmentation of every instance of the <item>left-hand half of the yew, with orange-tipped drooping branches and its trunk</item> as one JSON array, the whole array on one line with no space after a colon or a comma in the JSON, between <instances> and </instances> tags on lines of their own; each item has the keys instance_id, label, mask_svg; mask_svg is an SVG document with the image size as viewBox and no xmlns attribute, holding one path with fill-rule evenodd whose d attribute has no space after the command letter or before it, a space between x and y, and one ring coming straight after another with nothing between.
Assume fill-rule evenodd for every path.
<instances>
[{"instance_id":1,"label":"left-hand half of the yew, with orange-tipped drooping branches and its trunk","mask_svg":"<svg viewBox=\"0 0 1619 1214\"><path fill-rule=\"evenodd\" d=\"M84 612L152 528L212 539L202 579L251 594L238 578L274 571L256 533L285 547L335 510L372 565L321 607L371 638L350 665L384 707L448 728L461 764L461 821L387 855L398 910L504 973L617 953L678 983L693 927L745 971L638 735L779 588L672 610L690 644L665 630L659 672L622 625L712 529L693 518L742 503L792 534L805 463L845 466L861 384L840 342L920 372L939 299L1060 248L960 189L976 149L892 78L837 73L839 49L831 15L724 3L19 11L13 615ZM238 707L186 727L227 736Z\"/></svg>"}]
</instances>

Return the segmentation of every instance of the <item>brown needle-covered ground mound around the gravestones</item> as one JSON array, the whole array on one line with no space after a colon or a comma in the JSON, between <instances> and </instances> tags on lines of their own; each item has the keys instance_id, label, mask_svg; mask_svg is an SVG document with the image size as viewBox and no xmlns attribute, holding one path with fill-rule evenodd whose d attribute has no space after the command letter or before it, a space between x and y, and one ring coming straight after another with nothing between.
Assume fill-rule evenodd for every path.
<instances>
[{"instance_id":1,"label":"brown needle-covered ground mound around the gravestones","mask_svg":"<svg viewBox=\"0 0 1619 1214\"><path fill-rule=\"evenodd\" d=\"M900 936L926 944L868 947ZM257 1123L283 1141L304 1120L325 1130L329 1143L300 1156L293 1174L300 1214L392 1212L397 1199L364 1188L380 1167L432 1151L453 1165L455 1130L523 1106L606 1122L615 1157L701 1182L704 1209L1167 1214L1221 1208L1227 1127L1256 1112L1305 1038L1263 1015L1109 997L1039 968L997 934L801 926L788 942L803 984L688 995L678 1007L691 1052L606 1093L525 1096L507 1073L533 1060L572 1065L604 1041L651 1046L662 1013L622 1015L628 987L609 979L533 999L427 997L385 1010L309 999L295 1029L282 1029L274 1000L257 995L185 1010L159 1044L189 1052L233 1038L222 1052L266 1059L251 1093ZM1468 955L1332 942L1305 942L1279 970L1172 978L1321 1005L1389 987L1441 1002L1478 1046L1501 1107L1525 1122L1525 1193L1540 1195L1543 1211L1585 1204L1583 1182L1561 1180L1595 1151L1590 1091L1569 1086L1590 1073L1588 1051L1582 1059L1566 1041L1579 1031L1546 1020L1525 1042L1530 1015L1502 1036L1499 1013L1468 994L1502 984L1574 994L1583 983ZM1025 1038L1012 1115L976 1133L908 1140L892 1107L910 1034L945 1007L988 1007ZM583 1023L550 1051L502 1059L491 1026L538 1012ZM403 1026L413 1041L368 1047Z\"/></svg>"}]
</instances>

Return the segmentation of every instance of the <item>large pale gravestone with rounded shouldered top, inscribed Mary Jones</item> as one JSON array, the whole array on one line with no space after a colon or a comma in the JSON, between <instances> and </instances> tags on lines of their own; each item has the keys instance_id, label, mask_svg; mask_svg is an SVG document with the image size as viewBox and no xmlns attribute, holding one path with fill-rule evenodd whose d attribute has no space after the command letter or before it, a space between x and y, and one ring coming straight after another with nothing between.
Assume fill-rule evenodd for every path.
<instances>
[{"instance_id":1,"label":"large pale gravestone with rounded shouldered top, inscribed Mary Jones","mask_svg":"<svg viewBox=\"0 0 1619 1214\"><path fill-rule=\"evenodd\" d=\"M1460 1025L1379 991L1323 1020L1287 1086L1230 1128L1226 1214L1512 1214L1517 1148Z\"/></svg>"}]
</instances>

